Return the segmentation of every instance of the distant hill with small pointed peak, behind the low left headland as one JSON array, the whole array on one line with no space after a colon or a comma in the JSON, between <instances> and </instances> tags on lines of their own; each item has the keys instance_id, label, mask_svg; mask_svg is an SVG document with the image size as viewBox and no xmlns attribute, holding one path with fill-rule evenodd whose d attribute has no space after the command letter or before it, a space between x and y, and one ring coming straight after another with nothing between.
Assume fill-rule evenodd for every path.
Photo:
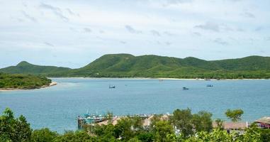
<instances>
[{"instance_id":1,"label":"distant hill with small pointed peak, behind the low left headland","mask_svg":"<svg viewBox=\"0 0 270 142\"><path fill-rule=\"evenodd\" d=\"M62 71L71 70L68 67L55 67L55 66L40 66L33 65L29 62L22 61L16 66L5 67L0 69L0 72L11 74L31 74L31 75L47 75L50 73L57 73Z\"/></svg>"}]
</instances>

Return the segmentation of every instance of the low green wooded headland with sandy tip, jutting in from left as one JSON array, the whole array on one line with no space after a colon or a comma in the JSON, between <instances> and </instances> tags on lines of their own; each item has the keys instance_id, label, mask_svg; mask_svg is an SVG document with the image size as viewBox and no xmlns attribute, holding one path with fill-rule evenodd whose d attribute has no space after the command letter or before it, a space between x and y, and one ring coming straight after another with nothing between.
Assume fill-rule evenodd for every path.
<instances>
[{"instance_id":1,"label":"low green wooded headland with sandy tip, jutting in from left","mask_svg":"<svg viewBox=\"0 0 270 142\"><path fill-rule=\"evenodd\" d=\"M11 75L0 72L0 91L15 90L15 89L39 89L50 87L56 82L47 77L35 75Z\"/></svg>"}]
</instances>

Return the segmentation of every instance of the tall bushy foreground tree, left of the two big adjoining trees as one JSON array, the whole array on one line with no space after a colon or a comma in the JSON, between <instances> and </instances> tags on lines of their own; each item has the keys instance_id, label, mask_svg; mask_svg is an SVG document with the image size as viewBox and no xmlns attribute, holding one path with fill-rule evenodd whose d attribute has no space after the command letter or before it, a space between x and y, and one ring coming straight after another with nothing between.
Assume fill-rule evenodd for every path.
<instances>
[{"instance_id":1,"label":"tall bushy foreground tree, left of the two big adjoining trees","mask_svg":"<svg viewBox=\"0 0 270 142\"><path fill-rule=\"evenodd\" d=\"M191 109L176 109L173 116L169 118L171 124L176 126L176 129L180 130L180 133L186 138L193 134Z\"/></svg>"}]
</instances>

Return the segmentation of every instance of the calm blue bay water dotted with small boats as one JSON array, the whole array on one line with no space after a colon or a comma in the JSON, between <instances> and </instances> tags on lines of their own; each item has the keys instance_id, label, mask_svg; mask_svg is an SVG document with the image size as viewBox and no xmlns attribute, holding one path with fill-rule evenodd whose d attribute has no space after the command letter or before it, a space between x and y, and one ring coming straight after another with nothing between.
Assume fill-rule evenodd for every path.
<instances>
[{"instance_id":1,"label":"calm blue bay water dotted with small boats","mask_svg":"<svg viewBox=\"0 0 270 142\"><path fill-rule=\"evenodd\" d=\"M86 111L150 114L189 107L193 113L206 110L213 118L225 119L225 110L241 108L243 121L270 116L270 80L52 80L58 84L50 88L0 92L0 111L10 107L16 116L26 116L33 129L59 132L76 130L77 116ZM109 84L116 89L108 89Z\"/></svg>"}]
</instances>

